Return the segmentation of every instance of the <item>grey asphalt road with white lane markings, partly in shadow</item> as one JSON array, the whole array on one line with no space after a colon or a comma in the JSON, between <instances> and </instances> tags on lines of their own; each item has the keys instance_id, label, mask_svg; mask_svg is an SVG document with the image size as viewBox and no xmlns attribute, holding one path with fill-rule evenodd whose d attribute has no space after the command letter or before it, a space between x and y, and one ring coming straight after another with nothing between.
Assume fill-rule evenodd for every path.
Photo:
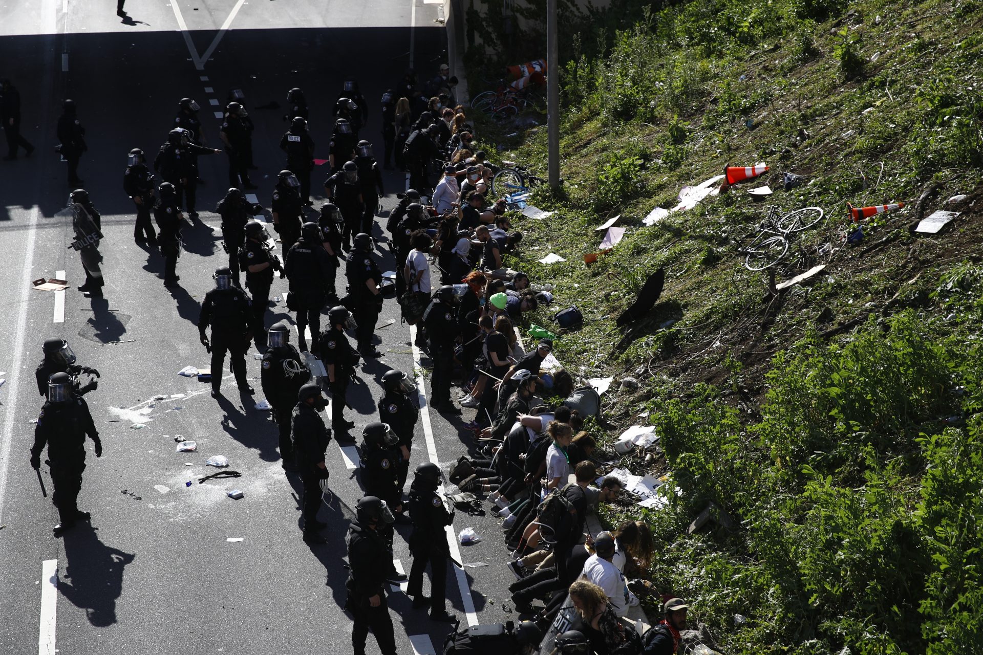
<instances>
[{"instance_id":1,"label":"grey asphalt road with white lane markings, partly in shadow","mask_svg":"<svg viewBox=\"0 0 983 655\"><path fill-rule=\"evenodd\" d=\"M177 374L208 361L196 323L211 272L225 262L218 217L207 210L226 189L226 158L200 160L202 222L185 228L181 286L170 291L161 283L160 255L133 242L133 205L122 177L130 148L152 157L164 142L182 96L199 101L205 138L218 144L220 121L212 112L231 89L242 89L257 127L256 193L268 207L285 161L278 142L287 126L282 111L257 107L283 105L290 87L304 88L316 156L326 158L331 102L348 74L358 77L371 103L363 136L376 142L378 153L382 90L398 81L411 52L422 76L434 75L442 61L438 8L423 0L177 1L179 11L163 1L131 0L123 21L112 0L8 0L0 9L0 62L9 66L0 75L21 89L22 132L37 146L31 158L0 166L0 297L7 307L0 314L0 378L6 379L0 388L0 653L34 652L35 644L40 653L109 655L351 652L351 622L341 611L344 536L362 492L338 444L327 459L334 496L320 514L329 523L329 543L308 547L297 489L279 466L274 424L254 408L262 399L256 352L248 355L258 390L253 398L240 397L228 379L225 399L216 402L207 384ZM227 31L218 39L221 27ZM70 224L56 216L70 191L53 152L64 97L77 101L87 128L89 151L79 173L102 213L105 300L75 291L84 281L82 266L66 248ZM325 175L313 177L315 193ZM387 210L405 178L387 171L385 184ZM376 236L383 237L378 227ZM382 242L377 254L383 270L391 270ZM30 280L59 271L73 285L61 300L29 289ZM284 291L286 281L277 279L271 297ZM64 317L56 322L60 306ZM271 313L267 324L283 317L293 323L282 303ZM378 326L384 356L362 369L362 384L349 392L354 433L376 419L382 373L418 364L394 300L386 302ZM99 389L87 396L105 451L97 460L89 443L80 507L92 513L91 527L61 539L51 534L57 514L28 463L31 421L41 406L33 368L49 336L69 340L79 361L102 374ZM470 434L460 430L460 419L425 413L413 465L429 454L449 463L467 452ZM465 410L466 420L471 413ZM197 441L198 452L176 453L179 434ZM199 484L199 475L215 470L204 466L212 455L226 456L242 477ZM226 497L234 488L245 493L242 500ZM448 609L462 624L514 619L499 600L507 598L511 575L496 523L459 514L453 528L468 525L486 539L462 548L462 561L490 566L463 576L449 572ZM395 557L408 571L409 531L400 532ZM227 541L238 537L243 540ZM49 580L42 563L52 561L56 576ZM464 596L461 586L469 590ZM439 650L446 624L411 610L401 592L390 595L390 608L399 652ZM372 637L369 652L377 652Z\"/></svg>"}]
</instances>

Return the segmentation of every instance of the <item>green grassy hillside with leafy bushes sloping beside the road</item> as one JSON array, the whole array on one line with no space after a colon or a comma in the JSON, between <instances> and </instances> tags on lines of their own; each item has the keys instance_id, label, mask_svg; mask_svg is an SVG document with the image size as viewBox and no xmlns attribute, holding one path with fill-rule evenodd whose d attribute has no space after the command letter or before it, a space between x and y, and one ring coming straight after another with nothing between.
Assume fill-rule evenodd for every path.
<instances>
[{"instance_id":1,"label":"green grassy hillside with leafy bushes sloping beside the road","mask_svg":"<svg viewBox=\"0 0 983 655\"><path fill-rule=\"evenodd\" d=\"M555 349L573 372L641 384L608 392L604 438L658 426L659 457L623 462L676 489L641 511L656 586L694 603L727 655L983 652L983 2L624 0L561 16L563 190L536 191L549 220L516 217L526 240L508 263L554 285L531 322L583 311ZM508 61L469 53L472 81L545 51L511 38ZM545 174L546 128L514 131L479 126L490 151ZM643 226L725 163L760 161L764 203L737 187ZM802 185L783 191L783 172ZM926 191L925 215L961 212L935 236L908 229ZM845 243L846 202L898 200ZM738 252L770 204L827 212L774 272L826 269L778 296ZM585 265L615 214L627 235ZM567 261L538 263L548 252ZM618 330L659 267L662 299ZM686 535L710 502L735 526Z\"/></svg>"}]
</instances>

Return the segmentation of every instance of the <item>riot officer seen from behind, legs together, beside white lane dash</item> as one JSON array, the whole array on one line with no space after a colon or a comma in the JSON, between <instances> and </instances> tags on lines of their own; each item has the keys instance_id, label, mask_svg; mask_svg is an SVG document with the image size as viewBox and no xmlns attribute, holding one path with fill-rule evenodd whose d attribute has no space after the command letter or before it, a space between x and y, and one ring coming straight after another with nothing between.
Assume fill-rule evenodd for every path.
<instances>
[{"instance_id":1,"label":"riot officer seen from behind, legs together, beside white lane dash","mask_svg":"<svg viewBox=\"0 0 983 655\"><path fill-rule=\"evenodd\" d=\"M311 326L312 352L318 353L317 335L320 332L320 309L333 291L328 284L334 279L331 257L321 246L321 232L317 223L305 223L301 238L287 254L284 268L290 283L291 301L288 308L297 311L297 332L300 347L307 352L304 329Z\"/></svg>"}]
</instances>

